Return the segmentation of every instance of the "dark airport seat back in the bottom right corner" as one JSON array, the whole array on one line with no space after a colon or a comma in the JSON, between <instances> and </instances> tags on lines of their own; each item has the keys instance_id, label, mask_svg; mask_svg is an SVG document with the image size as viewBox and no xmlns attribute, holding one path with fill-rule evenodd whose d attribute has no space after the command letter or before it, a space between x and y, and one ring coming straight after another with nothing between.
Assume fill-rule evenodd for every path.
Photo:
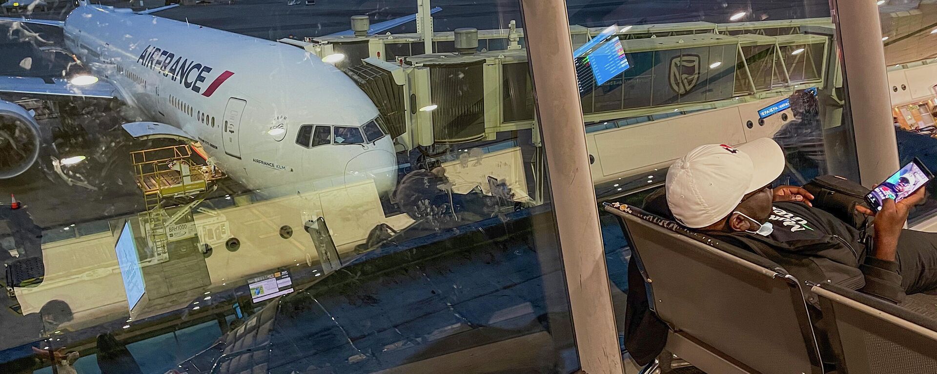
<instances>
[{"instance_id":1,"label":"dark airport seat back in the bottom right corner","mask_svg":"<svg viewBox=\"0 0 937 374\"><path fill-rule=\"evenodd\" d=\"M838 374L937 373L937 321L832 284L812 292L824 310Z\"/></svg>"}]
</instances>

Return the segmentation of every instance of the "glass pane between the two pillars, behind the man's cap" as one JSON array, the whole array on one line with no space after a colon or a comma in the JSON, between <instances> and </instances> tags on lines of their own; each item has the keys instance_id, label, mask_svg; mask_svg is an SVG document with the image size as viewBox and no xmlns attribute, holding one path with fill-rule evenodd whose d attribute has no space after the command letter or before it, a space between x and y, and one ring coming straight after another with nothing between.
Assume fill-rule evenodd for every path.
<instances>
[{"instance_id":1,"label":"glass pane between the two pillars, behind the man's cap","mask_svg":"<svg viewBox=\"0 0 937 374\"><path fill-rule=\"evenodd\" d=\"M786 158L773 185L799 186L825 174L857 179L827 2L638 3L567 2L570 23L579 26L571 57L600 202L673 220L666 200L650 200L663 202L655 210L662 206L645 199L662 196L677 158L706 144L762 137L774 139ZM645 295L629 294L629 285L642 278L629 274L632 248L617 218L601 217L622 356L647 364L653 338L625 335L637 324L625 324L625 306L640 302L628 297ZM628 352L626 341L638 352Z\"/></svg>"}]
</instances>

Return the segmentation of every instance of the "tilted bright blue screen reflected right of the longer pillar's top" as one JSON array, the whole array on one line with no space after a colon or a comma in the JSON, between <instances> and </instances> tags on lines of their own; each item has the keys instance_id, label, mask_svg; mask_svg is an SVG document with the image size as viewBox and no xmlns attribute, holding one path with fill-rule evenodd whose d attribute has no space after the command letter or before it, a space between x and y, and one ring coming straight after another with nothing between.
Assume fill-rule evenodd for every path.
<instances>
[{"instance_id":1,"label":"tilted bright blue screen reflected right of the longer pillar's top","mask_svg":"<svg viewBox=\"0 0 937 374\"><path fill-rule=\"evenodd\" d=\"M587 94L593 87L601 86L632 67L617 37L598 44L595 50L577 57L575 62L581 94Z\"/></svg>"}]
</instances>

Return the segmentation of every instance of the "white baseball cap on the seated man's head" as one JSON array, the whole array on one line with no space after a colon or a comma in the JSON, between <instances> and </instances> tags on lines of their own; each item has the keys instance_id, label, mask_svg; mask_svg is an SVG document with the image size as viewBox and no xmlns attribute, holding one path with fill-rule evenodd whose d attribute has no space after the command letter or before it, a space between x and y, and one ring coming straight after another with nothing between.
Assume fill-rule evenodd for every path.
<instances>
[{"instance_id":1,"label":"white baseball cap on the seated man's head","mask_svg":"<svg viewBox=\"0 0 937 374\"><path fill-rule=\"evenodd\" d=\"M667 171L667 205L677 222L706 227L732 213L745 194L778 179L783 170L784 151L768 137L737 148L700 146Z\"/></svg>"}]
</instances>

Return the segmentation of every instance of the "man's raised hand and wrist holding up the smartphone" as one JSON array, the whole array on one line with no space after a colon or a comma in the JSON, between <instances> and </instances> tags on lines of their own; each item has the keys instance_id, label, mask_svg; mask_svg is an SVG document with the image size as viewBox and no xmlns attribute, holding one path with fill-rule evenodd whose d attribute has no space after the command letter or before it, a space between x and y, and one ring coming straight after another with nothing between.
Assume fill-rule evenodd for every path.
<instances>
[{"instance_id":1,"label":"man's raised hand and wrist holding up the smartphone","mask_svg":"<svg viewBox=\"0 0 937 374\"><path fill-rule=\"evenodd\" d=\"M924 188L919 188L914 194L908 195L899 202L894 199L885 199L882 202L882 210L873 212L863 206L856 206L855 210L867 215L875 216L875 258L895 261L895 252L898 251L898 237L901 236L901 229L904 223L908 222L908 213L915 205L924 202L927 193Z\"/></svg>"}]
</instances>

